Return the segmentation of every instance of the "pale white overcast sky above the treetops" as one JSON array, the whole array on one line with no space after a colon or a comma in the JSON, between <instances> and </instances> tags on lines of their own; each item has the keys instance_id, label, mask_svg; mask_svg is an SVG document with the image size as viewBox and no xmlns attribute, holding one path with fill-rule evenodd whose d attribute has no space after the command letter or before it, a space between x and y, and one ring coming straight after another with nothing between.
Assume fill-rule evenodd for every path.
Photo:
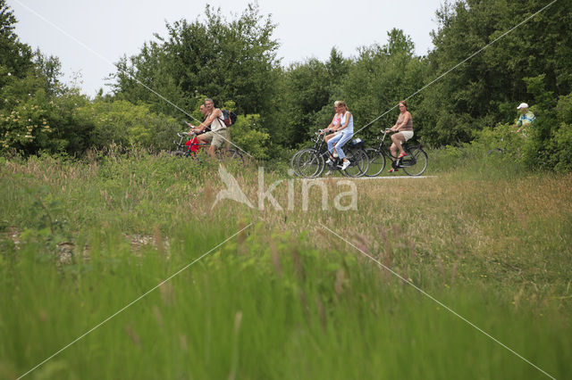
<instances>
[{"instance_id":1,"label":"pale white overcast sky above the treetops","mask_svg":"<svg viewBox=\"0 0 572 380\"><path fill-rule=\"evenodd\" d=\"M80 87L89 96L105 87L114 72L112 62L122 55L138 54L153 34L166 35L165 21L203 18L205 1L191 0L8 0L19 21L21 42L62 62L64 80L79 73ZM227 18L240 14L248 0L216 0ZM322 61L332 46L348 57L358 46L384 44L387 31L403 29L416 45L416 54L432 48L429 33L436 29L435 11L441 0L260 0L260 12L272 14L278 24L274 37L280 42L282 65L309 57ZM30 11L31 10L31 11ZM41 16L41 17L40 17ZM57 28L56 28L57 27ZM62 29L65 33L58 30ZM67 35L66 35L67 34ZM80 41L81 45L78 41Z\"/></svg>"}]
</instances>

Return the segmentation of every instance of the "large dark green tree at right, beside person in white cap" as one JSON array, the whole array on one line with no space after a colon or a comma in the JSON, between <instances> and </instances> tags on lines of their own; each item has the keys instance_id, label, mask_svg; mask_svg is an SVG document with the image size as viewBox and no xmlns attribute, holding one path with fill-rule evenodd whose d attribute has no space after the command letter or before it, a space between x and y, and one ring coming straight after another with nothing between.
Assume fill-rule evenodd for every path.
<instances>
[{"instance_id":1,"label":"large dark green tree at right, beside person in white cap","mask_svg":"<svg viewBox=\"0 0 572 380\"><path fill-rule=\"evenodd\" d=\"M532 98L525 78L545 74L547 91L554 96L570 92L572 15L568 4L552 4L512 29L545 5L539 0L467 0L443 5L436 13L435 47L428 56L433 75L425 83L484 50L424 91L419 110L426 141L433 145L467 142L484 126L511 120L516 105Z\"/></svg>"}]
</instances>

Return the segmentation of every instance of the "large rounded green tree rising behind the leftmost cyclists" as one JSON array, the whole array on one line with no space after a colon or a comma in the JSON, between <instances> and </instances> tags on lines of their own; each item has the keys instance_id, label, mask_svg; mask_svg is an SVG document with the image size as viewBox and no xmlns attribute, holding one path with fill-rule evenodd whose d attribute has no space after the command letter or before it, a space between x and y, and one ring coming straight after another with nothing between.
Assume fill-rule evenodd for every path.
<instances>
[{"instance_id":1,"label":"large rounded green tree rising behind the leftmost cyclists","mask_svg":"<svg viewBox=\"0 0 572 380\"><path fill-rule=\"evenodd\" d=\"M278 65L278 43L272 37L275 25L270 16L259 15L257 4L248 4L232 21L220 13L220 8L207 5L205 21L167 23L167 38L156 36L157 41L145 44L141 53L118 63L115 94L180 115L172 106L167 111L164 101L139 87L139 80L182 106L189 106L200 93L217 103L234 101L239 113L266 112Z\"/></svg>"}]
</instances>

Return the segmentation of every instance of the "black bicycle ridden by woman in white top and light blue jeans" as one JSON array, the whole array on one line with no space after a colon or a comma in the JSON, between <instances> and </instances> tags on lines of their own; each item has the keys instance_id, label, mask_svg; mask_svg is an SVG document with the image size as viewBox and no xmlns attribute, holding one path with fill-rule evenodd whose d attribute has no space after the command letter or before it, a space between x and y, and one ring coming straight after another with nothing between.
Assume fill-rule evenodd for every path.
<instances>
[{"instance_id":1,"label":"black bicycle ridden by woman in white top and light blue jeans","mask_svg":"<svg viewBox=\"0 0 572 380\"><path fill-rule=\"evenodd\" d=\"M315 132L314 147L305 148L297 153L294 153L290 160L290 167L294 174L302 178L316 178L320 176L326 167L324 157L328 157L329 153L326 149L324 142L324 129L319 129ZM366 152L364 150L364 143L360 138L353 139L346 145L346 157L349 160L349 167L341 170L342 160L340 158L334 159L328 165L331 171L340 170L341 174L347 177L361 177L363 176L369 166Z\"/></svg>"}]
</instances>

